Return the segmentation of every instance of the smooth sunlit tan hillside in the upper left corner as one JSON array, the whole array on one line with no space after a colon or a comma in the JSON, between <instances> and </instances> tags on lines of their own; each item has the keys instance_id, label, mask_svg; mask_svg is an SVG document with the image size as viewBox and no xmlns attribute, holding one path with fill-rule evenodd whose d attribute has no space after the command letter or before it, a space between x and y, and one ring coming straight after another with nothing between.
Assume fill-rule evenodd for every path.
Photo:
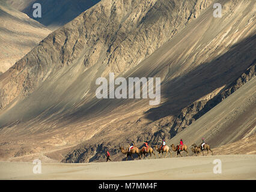
<instances>
[{"instance_id":1,"label":"smooth sunlit tan hillside in the upper left corner","mask_svg":"<svg viewBox=\"0 0 256 192\"><path fill-rule=\"evenodd\" d=\"M50 30L30 19L4 0L0 1L0 73L4 73L11 66L26 55L43 38L50 34Z\"/></svg>"}]
</instances>

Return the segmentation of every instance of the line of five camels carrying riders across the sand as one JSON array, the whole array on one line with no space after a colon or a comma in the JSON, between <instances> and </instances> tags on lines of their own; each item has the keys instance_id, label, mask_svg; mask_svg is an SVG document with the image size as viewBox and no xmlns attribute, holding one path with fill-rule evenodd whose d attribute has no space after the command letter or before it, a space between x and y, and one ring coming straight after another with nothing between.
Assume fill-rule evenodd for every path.
<instances>
[{"instance_id":1,"label":"line of five camels carrying riders across the sand","mask_svg":"<svg viewBox=\"0 0 256 192\"><path fill-rule=\"evenodd\" d=\"M209 151L212 152L213 155L213 151L212 149L210 149L210 145L208 145L204 138L202 138L203 142L200 145L196 145L193 144L191 151L193 152L193 155L198 155L198 154L203 154L204 155L204 151L207 151L207 155L209 154ZM133 154L136 154L139 159L141 159L142 156L144 156L143 158L146 157L147 154L150 154L150 158L152 157L152 154L154 155L154 158L156 158L156 154L154 153L154 149L156 149L156 151L158 152L158 157L160 158L160 155L162 153L162 157L163 154L165 153L165 158L167 157L168 154L170 154L170 157L172 157L171 151L177 152L177 157L178 155L180 155L181 157L183 157L181 155L181 152L186 152L186 156L188 155L189 151L187 148L186 144L183 144L183 140L180 139L180 144L179 145L171 145L171 148L169 148L169 146L166 145L165 140L162 141L162 145L158 146L158 145L154 145L153 148L151 148L150 146L148 146L148 142L145 141L144 142L145 146L142 146L141 149L139 149L138 147L136 147L134 145L134 142L132 141L132 143L126 148L124 149L122 146L120 147L120 151L126 155L126 161L128 157L131 157L132 160L134 160L133 158Z\"/></svg>"}]
</instances>

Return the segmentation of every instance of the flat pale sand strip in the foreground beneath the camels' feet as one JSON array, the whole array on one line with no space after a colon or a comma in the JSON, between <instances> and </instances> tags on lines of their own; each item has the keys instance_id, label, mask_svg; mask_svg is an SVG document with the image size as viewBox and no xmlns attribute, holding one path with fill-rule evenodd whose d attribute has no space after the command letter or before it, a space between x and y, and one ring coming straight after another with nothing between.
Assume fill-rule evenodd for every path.
<instances>
[{"instance_id":1,"label":"flat pale sand strip in the foreground beneath the camels' feet","mask_svg":"<svg viewBox=\"0 0 256 192\"><path fill-rule=\"evenodd\" d=\"M215 159L222 173L213 173ZM42 163L41 174L34 164L0 162L0 179L256 179L256 155L208 155L157 158L108 163Z\"/></svg>"}]
</instances>

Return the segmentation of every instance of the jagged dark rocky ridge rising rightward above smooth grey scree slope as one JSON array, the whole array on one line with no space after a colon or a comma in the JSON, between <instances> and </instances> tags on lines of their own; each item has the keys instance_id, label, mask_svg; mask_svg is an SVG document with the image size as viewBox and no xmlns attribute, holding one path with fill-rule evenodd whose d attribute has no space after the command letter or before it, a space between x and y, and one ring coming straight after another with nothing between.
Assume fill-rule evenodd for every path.
<instances>
[{"instance_id":1,"label":"jagged dark rocky ridge rising rightward above smooth grey scree slope","mask_svg":"<svg viewBox=\"0 0 256 192\"><path fill-rule=\"evenodd\" d=\"M222 89L213 98L208 100L199 100L190 104L181 110L181 113L175 116L172 121L159 126L159 131L151 137L151 143L157 143L162 138L171 139L178 132L188 127L193 122L197 121L201 116L213 109L221 101L233 94L237 89L242 87L246 82L255 77L255 61L240 77L234 80L233 83ZM214 94L214 93L213 93Z\"/></svg>"}]
</instances>

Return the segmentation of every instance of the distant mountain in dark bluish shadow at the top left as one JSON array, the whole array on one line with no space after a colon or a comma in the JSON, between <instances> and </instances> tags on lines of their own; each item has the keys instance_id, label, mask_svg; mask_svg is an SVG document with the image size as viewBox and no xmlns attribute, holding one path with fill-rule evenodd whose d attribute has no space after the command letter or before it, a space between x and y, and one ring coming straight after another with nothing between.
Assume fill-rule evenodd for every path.
<instances>
[{"instance_id":1,"label":"distant mountain in dark bluish shadow at the top left","mask_svg":"<svg viewBox=\"0 0 256 192\"><path fill-rule=\"evenodd\" d=\"M17 10L27 14L34 20L37 20L50 30L54 31L60 26L65 25L75 19L79 14L93 7L100 0L6 0L8 4ZM41 17L34 18L33 5L41 5Z\"/></svg>"}]
</instances>

